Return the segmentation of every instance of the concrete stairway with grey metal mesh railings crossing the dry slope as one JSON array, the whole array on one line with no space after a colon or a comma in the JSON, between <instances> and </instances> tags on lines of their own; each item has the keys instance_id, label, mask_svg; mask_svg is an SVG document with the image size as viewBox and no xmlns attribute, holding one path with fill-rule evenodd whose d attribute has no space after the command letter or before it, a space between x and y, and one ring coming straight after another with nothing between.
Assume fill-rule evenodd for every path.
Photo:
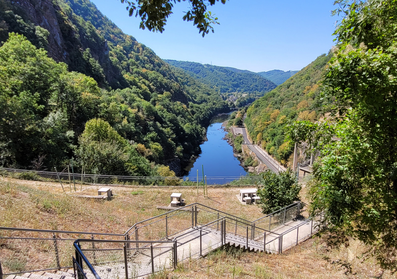
<instances>
[{"instance_id":1,"label":"concrete stairway with grey metal mesh railings crossing the dry slope","mask_svg":"<svg viewBox=\"0 0 397 279\"><path fill-rule=\"evenodd\" d=\"M0 262L23 256L21 251L29 254L46 242L45 250L37 250L40 259L34 260L37 255L31 257L27 271L9 267L1 270L0 265L0 275L7 279L143 278L175 269L184 260L200 258L225 246L282 253L317 232L322 224L322 214L313 218L301 216L301 205L293 203L249 221L193 203L185 206L186 210L179 208L138 222L124 234L0 228L4 242L0 246ZM78 239L74 240L76 235ZM25 273L23 277L18 275L21 273Z\"/></svg>"}]
</instances>

